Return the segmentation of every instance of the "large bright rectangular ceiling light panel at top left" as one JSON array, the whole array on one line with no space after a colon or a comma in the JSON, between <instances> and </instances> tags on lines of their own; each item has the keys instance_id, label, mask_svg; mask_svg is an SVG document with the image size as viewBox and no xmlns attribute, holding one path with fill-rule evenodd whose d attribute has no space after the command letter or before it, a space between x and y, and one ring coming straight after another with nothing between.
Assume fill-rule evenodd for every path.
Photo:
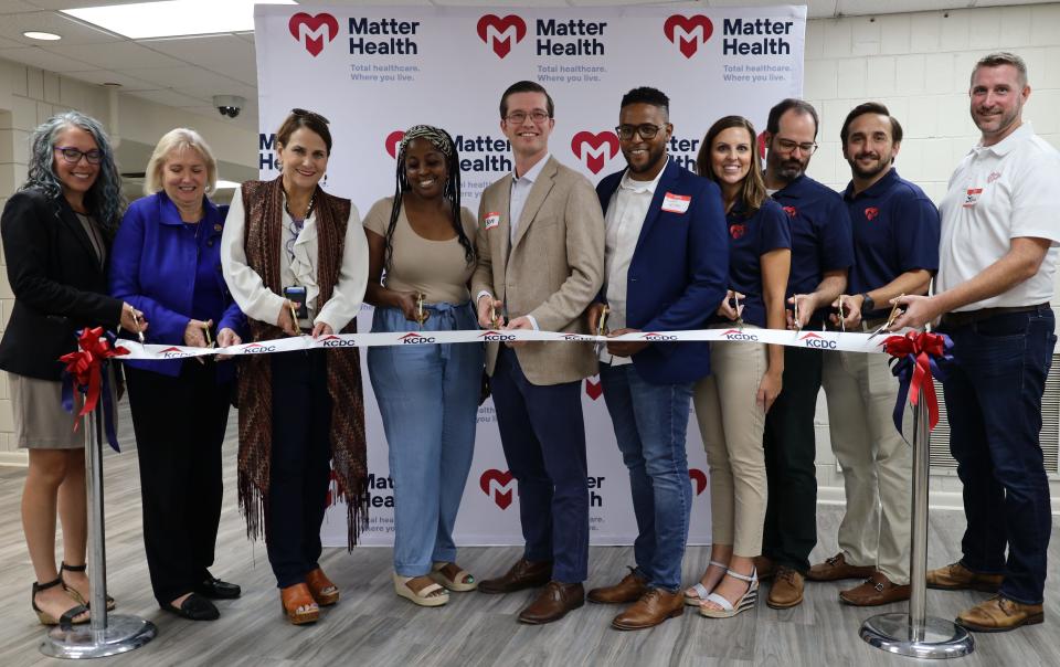
<instances>
[{"instance_id":1,"label":"large bright rectangular ceiling light panel at top left","mask_svg":"<svg viewBox=\"0 0 1060 667\"><path fill-rule=\"evenodd\" d=\"M255 4L295 4L295 0L163 0L62 12L130 40L146 40L254 30Z\"/></svg>"}]
</instances>

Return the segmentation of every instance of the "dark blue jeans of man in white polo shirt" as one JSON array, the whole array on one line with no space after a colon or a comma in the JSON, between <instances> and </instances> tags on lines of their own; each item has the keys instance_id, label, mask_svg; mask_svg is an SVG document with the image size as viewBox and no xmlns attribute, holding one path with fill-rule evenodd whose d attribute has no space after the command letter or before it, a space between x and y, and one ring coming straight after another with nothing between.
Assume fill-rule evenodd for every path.
<instances>
[{"instance_id":1,"label":"dark blue jeans of man in white polo shirt","mask_svg":"<svg viewBox=\"0 0 1060 667\"><path fill-rule=\"evenodd\" d=\"M1042 601L1052 529L1038 437L1054 328L1048 306L943 327L956 361L945 391L968 521L962 562L974 572L1004 573L1000 594L1024 604Z\"/></svg>"}]
</instances>

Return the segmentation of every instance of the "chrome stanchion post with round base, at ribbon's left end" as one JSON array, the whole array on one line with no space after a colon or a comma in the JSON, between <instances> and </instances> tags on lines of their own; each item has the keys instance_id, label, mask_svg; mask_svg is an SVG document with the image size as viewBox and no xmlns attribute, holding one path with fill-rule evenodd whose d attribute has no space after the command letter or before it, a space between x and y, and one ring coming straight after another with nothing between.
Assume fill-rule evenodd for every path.
<instances>
[{"instance_id":1,"label":"chrome stanchion post with round base, at ribbon's left end","mask_svg":"<svg viewBox=\"0 0 1060 667\"><path fill-rule=\"evenodd\" d=\"M104 368L103 372L107 372ZM88 600L92 621L44 636L41 653L53 658L102 658L139 648L155 638L150 621L107 614L106 542L103 520L103 400L85 416L85 491L88 504Z\"/></svg>"}]
</instances>

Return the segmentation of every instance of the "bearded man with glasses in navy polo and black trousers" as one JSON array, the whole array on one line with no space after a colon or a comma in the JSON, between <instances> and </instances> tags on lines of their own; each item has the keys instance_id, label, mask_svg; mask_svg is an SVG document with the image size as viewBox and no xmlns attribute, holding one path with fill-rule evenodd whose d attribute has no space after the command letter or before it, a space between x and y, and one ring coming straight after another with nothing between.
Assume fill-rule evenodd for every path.
<instances>
[{"instance_id":1,"label":"bearded man with glasses in navy polo and black trousers","mask_svg":"<svg viewBox=\"0 0 1060 667\"><path fill-rule=\"evenodd\" d=\"M792 223L788 321L799 329L822 326L828 306L846 289L854 264L850 218L842 198L805 176L817 148L817 125L813 105L788 98L770 110L765 126L770 151L765 186ZM765 415L770 500L759 576L775 573L766 600L773 608L802 603L803 578L817 543L814 414L824 354L813 348L784 348L784 390Z\"/></svg>"}]
</instances>

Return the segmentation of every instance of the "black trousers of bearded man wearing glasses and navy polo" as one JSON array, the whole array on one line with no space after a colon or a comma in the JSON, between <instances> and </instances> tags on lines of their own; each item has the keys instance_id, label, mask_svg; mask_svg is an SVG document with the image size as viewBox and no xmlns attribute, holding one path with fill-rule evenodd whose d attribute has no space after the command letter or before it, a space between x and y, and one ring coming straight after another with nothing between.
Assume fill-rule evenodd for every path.
<instances>
[{"instance_id":1,"label":"black trousers of bearded man wearing glasses and navy polo","mask_svg":"<svg viewBox=\"0 0 1060 667\"><path fill-rule=\"evenodd\" d=\"M765 416L770 500L762 553L803 574L817 544L817 442L814 413L824 352L784 348L784 390Z\"/></svg>"}]
</instances>

